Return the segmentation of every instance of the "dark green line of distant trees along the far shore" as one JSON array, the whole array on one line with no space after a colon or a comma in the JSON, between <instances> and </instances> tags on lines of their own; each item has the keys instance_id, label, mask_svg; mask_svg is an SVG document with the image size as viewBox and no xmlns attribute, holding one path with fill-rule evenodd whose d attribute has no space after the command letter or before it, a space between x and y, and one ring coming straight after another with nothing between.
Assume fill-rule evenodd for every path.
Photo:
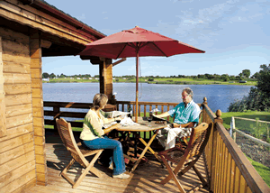
<instances>
[{"instance_id":1,"label":"dark green line of distant trees along the far shore","mask_svg":"<svg viewBox=\"0 0 270 193\"><path fill-rule=\"evenodd\" d=\"M234 76L234 75L228 75L228 74L198 74L198 75L193 75L193 76L185 76L185 75L172 75L172 76L145 76L142 78L147 78L149 81L154 80L154 78L193 78L193 79L197 79L197 78L202 78L202 79L210 79L210 80L223 80L223 81L229 81L229 80L243 80L243 79L257 79L258 73L255 73L253 76L250 77L250 70L249 69L243 69L241 73L238 74L238 76ZM47 73L44 72L42 74L42 78L91 78L90 74L85 74L85 75L71 75L71 76L67 76L63 73L61 73L60 75L55 75L54 73ZM99 75L94 75L94 78L99 78ZM124 76L113 76L113 78L127 78L127 79L132 79L132 78L136 78L135 75L124 75Z\"/></svg>"}]
</instances>

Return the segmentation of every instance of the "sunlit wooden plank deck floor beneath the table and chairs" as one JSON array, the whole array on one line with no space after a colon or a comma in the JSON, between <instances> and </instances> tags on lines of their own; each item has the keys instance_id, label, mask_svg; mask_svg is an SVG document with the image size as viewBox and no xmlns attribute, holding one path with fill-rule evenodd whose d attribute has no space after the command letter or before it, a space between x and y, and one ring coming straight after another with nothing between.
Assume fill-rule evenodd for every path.
<instances>
[{"instance_id":1,"label":"sunlit wooden plank deck floor beneath the table and chairs","mask_svg":"<svg viewBox=\"0 0 270 193\"><path fill-rule=\"evenodd\" d=\"M66 179L59 176L64 165L70 161L71 156L63 146L59 136L46 133L46 155L48 165L48 186L35 186L26 189L25 192L179 192L175 182L171 179L166 185L159 182L168 174L166 169L155 160L154 156L146 154L148 162L139 165L131 174L130 179L112 179L112 168L104 168L95 163L96 167L101 170L102 178L96 178L92 173L86 175L79 187L72 188ZM196 164L202 175L205 176L204 163L202 158ZM112 167L112 166L111 166ZM75 164L69 170L68 174L71 179L76 179L80 174L82 167ZM190 190L200 184L193 170L187 172L181 177L181 183L185 190ZM201 188L196 192L209 192L206 188Z\"/></svg>"}]
</instances>

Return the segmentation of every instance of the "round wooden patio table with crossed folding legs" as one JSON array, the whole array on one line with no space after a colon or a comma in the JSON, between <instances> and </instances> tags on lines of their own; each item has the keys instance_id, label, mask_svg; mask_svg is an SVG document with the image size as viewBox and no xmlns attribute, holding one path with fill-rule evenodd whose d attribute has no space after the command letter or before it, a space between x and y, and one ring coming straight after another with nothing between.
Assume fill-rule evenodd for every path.
<instances>
[{"instance_id":1,"label":"round wooden patio table with crossed folding legs","mask_svg":"<svg viewBox=\"0 0 270 193\"><path fill-rule=\"evenodd\" d=\"M152 121L151 123L148 123L147 117L138 117L138 124L132 124L132 125L127 125L127 126L121 125L119 128L116 129L117 131L128 133L129 140L130 140L130 137L129 137L130 133L135 133L135 154L137 152L137 150L136 150L137 142L136 141L138 141L138 139L140 142L142 142L145 145L145 148L143 149L142 153L139 155L139 159L137 161L130 158L130 156L127 156L124 154L125 158L129 159L132 162L135 162L134 166L132 167L130 172L133 172L137 168L137 166L139 165L139 162L141 161L144 154L148 150L157 158L158 161L162 162L161 159L159 158L159 156L157 155L157 152L153 151L153 149L150 147L150 145L154 141L155 137L157 136L158 130L166 127L166 125L167 125L166 122L161 123L161 124L160 123L157 124L156 121ZM151 126L148 126L149 124L151 124ZM137 132L151 132L151 131L154 131L154 134L152 135L152 137L149 139L148 142L145 142L140 137L140 135L137 133Z\"/></svg>"}]
</instances>

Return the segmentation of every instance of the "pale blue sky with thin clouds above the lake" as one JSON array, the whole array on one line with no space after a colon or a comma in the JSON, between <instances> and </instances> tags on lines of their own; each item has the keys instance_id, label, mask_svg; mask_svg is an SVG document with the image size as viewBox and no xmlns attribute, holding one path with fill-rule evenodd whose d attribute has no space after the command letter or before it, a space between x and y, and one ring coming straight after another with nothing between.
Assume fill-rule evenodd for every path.
<instances>
[{"instance_id":1,"label":"pale blue sky with thin clouds above the lake","mask_svg":"<svg viewBox=\"0 0 270 193\"><path fill-rule=\"evenodd\" d=\"M270 64L270 0L46 0L105 35L135 26L190 44L205 53L140 57L140 76L251 75ZM114 62L115 60L112 60ZM98 75L98 65L79 56L43 57L42 71ZM112 69L135 75L136 58Z\"/></svg>"}]
</instances>

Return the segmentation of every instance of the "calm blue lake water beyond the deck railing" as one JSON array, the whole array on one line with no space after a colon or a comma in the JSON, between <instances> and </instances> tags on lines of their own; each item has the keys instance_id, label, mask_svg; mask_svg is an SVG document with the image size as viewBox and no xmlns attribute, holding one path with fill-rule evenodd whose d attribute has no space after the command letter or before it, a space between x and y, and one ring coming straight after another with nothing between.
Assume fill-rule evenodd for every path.
<instances>
[{"instance_id":1,"label":"calm blue lake water beyond the deck railing","mask_svg":"<svg viewBox=\"0 0 270 193\"><path fill-rule=\"evenodd\" d=\"M230 85L159 85L139 84L139 101L144 102L182 102L181 92L184 87L193 89L193 100L202 103L207 97L212 112L220 109L227 112L229 104L248 95L251 86ZM113 93L120 101L135 101L135 83L113 83ZM99 93L99 83L44 83L43 100L57 102L92 103Z\"/></svg>"}]
</instances>

